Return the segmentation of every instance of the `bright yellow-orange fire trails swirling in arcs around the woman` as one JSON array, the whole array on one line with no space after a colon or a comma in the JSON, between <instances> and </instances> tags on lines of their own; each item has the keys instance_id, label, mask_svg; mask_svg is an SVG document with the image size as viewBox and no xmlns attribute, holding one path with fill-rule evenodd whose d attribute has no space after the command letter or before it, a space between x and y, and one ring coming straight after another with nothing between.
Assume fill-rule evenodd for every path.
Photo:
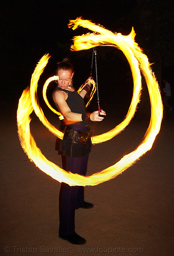
<instances>
[{"instance_id":1,"label":"bright yellow-orange fire trails swirling in arcs around the woman","mask_svg":"<svg viewBox=\"0 0 174 256\"><path fill-rule=\"evenodd\" d=\"M141 94L140 71L142 72L147 84L151 108L150 122L144 135L143 141L133 152L122 157L120 161L91 176L84 177L78 174L66 172L66 170L63 170L53 162L49 161L37 147L36 142L30 132L30 114L34 110L40 121L49 129L50 132L52 132L60 139L62 139L63 137L63 133L57 130L56 127L47 120L37 100L38 80L40 78L40 75L44 72L45 67L47 66L50 58L49 54L44 55L40 59L32 75L30 87L24 90L23 94L19 99L17 109L17 126L20 143L23 147L23 150L28 155L29 159L33 161L40 170L50 175L53 179L59 182L68 183L70 186L94 186L104 181L115 178L151 149L156 139L156 136L160 131L161 121L163 118L163 104L161 100L158 82L154 73L150 69L148 58L145 54L143 54L142 50L135 42L136 33L134 31L134 28L129 35L125 36L121 33L113 33L109 30L106 30L102 26L95 25L89 20L81 19L81 17L78 17L75 20L70 20L69 28L72 27L72 29L74 30L79 26L88 28L94 33L75 36L73 38L74 44L71 46L71 50L81 51L97 46L111 46L118 48L123 52L123 54L127 58L127 61L129 62L134 82L132 101L130 103L127 115L124 120L111 131L92 137L92 143L97 144L112 139L114 136L120 133L134 117L137 105L140 101ZM59 112L55 111L51 107L46 97L47 87L49 83L52 80L56 80L57 78L57 76L53 76L46 81L43 88L43 95L49 108L54 113L58 114L59 118L61 119L63 117L60 115ZM81 89L82 88L80 88L79 90ZM91 95L91 98L95 93L95 89L95 82L93 81L93 94Z\"/></svg>"}]
</instances>

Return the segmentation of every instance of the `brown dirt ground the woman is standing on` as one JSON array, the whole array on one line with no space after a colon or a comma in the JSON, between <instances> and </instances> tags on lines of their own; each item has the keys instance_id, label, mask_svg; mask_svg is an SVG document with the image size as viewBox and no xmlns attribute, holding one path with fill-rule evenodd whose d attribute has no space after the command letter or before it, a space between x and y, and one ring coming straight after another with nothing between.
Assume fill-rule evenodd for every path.
<instances>
[{"instance_id":1,"label":"brown dirt ground the woman is standing on","mask_svg":"<svg viewBox=\"0 0 174 256\"><path fill-rule=\"evenodd\" d=\"M164 113L153 148L139 161L115 179L85 187L85 200L95 206L76 210L76 232L87 240L78 246L57 236L60 183L41 172L21 148L16 109L17 102L1 106L1 255L173 255L173 111ZM134 150L148 119L136 115L121 134L93 145L88 174ZM119 121L108 117L95 133ZM55 136L36 117L31 127L42 153L61 165Z\"/></svg>"}]
</instances>

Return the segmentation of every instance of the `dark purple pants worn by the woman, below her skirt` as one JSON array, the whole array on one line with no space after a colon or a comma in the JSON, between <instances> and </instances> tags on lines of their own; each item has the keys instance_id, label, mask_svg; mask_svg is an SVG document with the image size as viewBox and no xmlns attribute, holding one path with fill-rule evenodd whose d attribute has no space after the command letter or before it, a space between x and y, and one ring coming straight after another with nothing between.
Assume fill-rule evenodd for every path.
<instances>
[{"instance_id":1,"label":"dark purple pants worn by the woman, below her skirt","mask_svg":"<svg viewBox=\"0 0 174 256\"><path fill-rule=\"evenodd\" d=\"M71 173L85 176L89 154L83 157L67 157L66 169ZM59 234L68 235L75 232L75 209L84 204L84 187L69 186L61 183L59 194Z\"/></svg>"}]
</instances>

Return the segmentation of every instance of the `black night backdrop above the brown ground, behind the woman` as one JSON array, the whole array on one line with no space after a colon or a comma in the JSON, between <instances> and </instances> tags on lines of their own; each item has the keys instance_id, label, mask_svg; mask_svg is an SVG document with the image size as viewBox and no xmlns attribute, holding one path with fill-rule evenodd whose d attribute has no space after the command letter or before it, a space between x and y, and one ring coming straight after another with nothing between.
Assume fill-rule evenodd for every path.
<instances>
[{"instance_id":1,"label":"black night backdrop above the brown ground, behind the woman","mask_svg":"<svg viewBox=\"0 0 174 256\"><path fill-rule=\"evenodd\" d=\"M17 101L29 86L38 60L46 53L52 58L40 79L40 84L55 74L57 60L70 56L75 66L74 86L89 77L92 49L71 52L75 35L90 32L68 28L70 19L82 16L113 32L124 35L132 27L136 42L148 56L160 87L162 77L167 77L173 88L173 7L172 1L39 1L14 0L1 2L1 95L2 102ZM132 98L132 76L126 58L112 47L98 47L98 80L102 108L107 110L107 98L118 105L129 105ZM95 74L93 74L95 78ZM48 97L55 85L50 85ZM173 89L172 89L173 90ZM38 92L39 94L39 92ZM127 103L127 104L126 104ZM94 105L96 99L94 99ZM121 105L121 106L122 106ZM95 107L94 107L95 108Z\"/></svg>"}]
</instances>

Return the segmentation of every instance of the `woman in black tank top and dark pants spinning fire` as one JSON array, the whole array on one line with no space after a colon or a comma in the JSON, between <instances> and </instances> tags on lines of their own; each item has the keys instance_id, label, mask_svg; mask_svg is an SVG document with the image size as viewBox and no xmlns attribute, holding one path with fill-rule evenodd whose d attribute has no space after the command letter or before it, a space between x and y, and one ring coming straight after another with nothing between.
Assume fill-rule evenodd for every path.
<instances>
[{"instance_id":1,"label":"woman in black tank top and dark pants spinning fire","mask_svg":"<svg viewBox=\"0 0 174 256\"><path fill-rule=\"evenodd\" d=\"M89 115L85 113L83 98L90 90L90 78L78 94L72 85L73 75L73 65L67 59L58 63L58 86L53 93L53 100L64 117L64 136L60 143L61 154L65 157L65 165L62 161L63 169L85 176L91 151L89 120L102 121L104 117L99 116L98 111ZM103 110L101 115L105 115ZM86 240L75 232L75 209L93 206L84 201L83 186L69 186L62 182L59 194L59 237L72 244L84 244Z\"/></svg>"}]
</instances>

